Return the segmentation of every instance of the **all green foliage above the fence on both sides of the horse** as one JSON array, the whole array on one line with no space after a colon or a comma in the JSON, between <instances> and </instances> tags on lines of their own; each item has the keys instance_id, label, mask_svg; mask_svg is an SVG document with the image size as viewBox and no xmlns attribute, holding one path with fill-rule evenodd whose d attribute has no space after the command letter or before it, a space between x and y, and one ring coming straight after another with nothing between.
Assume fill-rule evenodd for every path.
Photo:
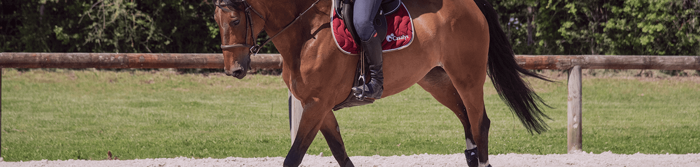
<instances>
[{"instance_id":1,"label":"all green foliage above the fence on both sides of the horse","mask_svg":"<svg viewBox=\"0 0 700 167\"><path fill-rule=\"evenodd\" d=\"M700 1L492 3L517 54L700 55ZM0 6L0 52L221 52L211 1L32 0ZM272 44L260 50L276 52Z\"/></svg>"}]
</instances>

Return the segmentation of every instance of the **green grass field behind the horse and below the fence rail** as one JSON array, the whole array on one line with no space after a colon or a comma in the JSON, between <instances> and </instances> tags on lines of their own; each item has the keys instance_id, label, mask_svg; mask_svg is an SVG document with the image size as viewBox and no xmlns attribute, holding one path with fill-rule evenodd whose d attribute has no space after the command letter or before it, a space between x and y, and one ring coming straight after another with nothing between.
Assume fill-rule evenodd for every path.
<instances>
[{"instance_id":1,"label":"green grass field behind the horse and below the fence rail","mask_svg":"<svg viewBox=\"0 0 700 167\"><path fill-rule=\"evenodd\" d=\"M566 80L560 80L566 83ZM554 109L550 131L531 135L490 82L490 154L566 153L566 84L531 80ZM172 71L43 71L2 75L2 157L120 159L284 157L287 90L279 76ZM700 84L584 78L583 150L617 154L700 152ZM455 154L464 133L454 114L420 87L336 111L350 156ZM308 154L328 145L319 133Z\"/></svg>"}]
</instances>

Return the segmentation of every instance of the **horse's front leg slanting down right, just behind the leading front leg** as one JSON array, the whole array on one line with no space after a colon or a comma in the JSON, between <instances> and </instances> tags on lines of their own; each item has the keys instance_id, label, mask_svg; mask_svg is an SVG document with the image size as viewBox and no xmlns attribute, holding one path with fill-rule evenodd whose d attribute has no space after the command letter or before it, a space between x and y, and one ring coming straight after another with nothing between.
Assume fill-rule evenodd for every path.
<instances>
[{"instance_id":1,"label":"horse's front leg slanting down right, just behind the leading front leg","mask_svg":"<svg viewBox=\"0 0 700 167\"><path fill-rule=\"evenodd\" d=\"M321 125L321 133L325 137L325 142L328 143L330 147L330 152L333 153L333 157L338 161L341 167L352 167L352 161L345 152L345 144L343 143L343 138L340 137L340 126L335 119L333 112L328 112L323 119L323 125Z\"/></svg>"}]
</instances>

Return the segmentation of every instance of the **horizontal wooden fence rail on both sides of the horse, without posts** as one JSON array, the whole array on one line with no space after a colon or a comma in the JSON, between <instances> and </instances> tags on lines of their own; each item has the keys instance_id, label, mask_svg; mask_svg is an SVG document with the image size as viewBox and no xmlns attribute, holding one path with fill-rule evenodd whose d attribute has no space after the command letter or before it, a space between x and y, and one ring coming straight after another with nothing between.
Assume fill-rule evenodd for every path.
<instances>
[{"instance_id":1,"label":"horizontal wooden fence rail on both sides of the horse, without posts","mask_svg":"<svg viewBox=\"0 0 700 167\"><path fill-rule=\"evenodd\" d=\"M526 69L700 70L698 56L516 55ZM0 53L0 68L223 68L221 54ZM279 54L251 57L251 68L282 68Z\"/></svg>"}]
</instances>

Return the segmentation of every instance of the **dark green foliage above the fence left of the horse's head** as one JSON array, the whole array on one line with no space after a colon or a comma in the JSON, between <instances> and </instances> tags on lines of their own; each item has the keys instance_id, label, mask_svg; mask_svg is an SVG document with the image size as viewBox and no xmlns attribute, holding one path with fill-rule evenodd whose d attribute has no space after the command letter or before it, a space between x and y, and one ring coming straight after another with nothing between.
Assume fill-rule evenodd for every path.
<instances>
[{"instance_id":1,"label":"dark green foliage above the fence left of the horse's head","mask_svg":"<svg viewBox=\"0 0 700 167\"><path fill-rule=\"evenodd\" d=\"M221 52L209 1L3 1L1 52ZM213 31L216 28L216 31Z\"/></svg>"}]
</instances>

